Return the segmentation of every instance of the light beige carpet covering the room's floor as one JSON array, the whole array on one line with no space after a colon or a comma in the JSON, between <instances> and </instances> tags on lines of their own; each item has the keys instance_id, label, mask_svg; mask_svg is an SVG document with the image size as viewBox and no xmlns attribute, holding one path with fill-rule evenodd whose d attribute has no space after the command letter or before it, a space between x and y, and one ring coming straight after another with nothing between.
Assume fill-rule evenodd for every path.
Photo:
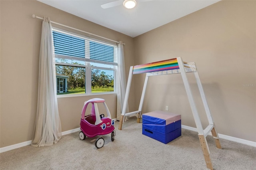
<instances>
[{"instance_id":1,"label":"light beige carpet covering the room's floor","mask_svg":"<svg viewBox=\"0 0 256 170\"><path fill-rule=\"evenodd\" d=\"M182 129L182 136L163 144L142 134L142 123L131 117L111 141L96 149L95 138L80 140L64 135L53 146L24 146L0 154L1 170L207 170L197 132ZM256 148L220 139L223 149L206 137L215 170L256 170Z\"/></svg>"}]
</instances>

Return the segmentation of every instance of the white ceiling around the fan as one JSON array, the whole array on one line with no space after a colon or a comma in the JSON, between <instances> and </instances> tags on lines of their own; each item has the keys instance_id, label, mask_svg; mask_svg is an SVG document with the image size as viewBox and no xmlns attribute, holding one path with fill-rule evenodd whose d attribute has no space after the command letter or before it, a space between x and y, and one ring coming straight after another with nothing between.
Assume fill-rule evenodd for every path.
<instances>
[{"instance_id":1,"label":"white ceiling around the fan","mask_svg":"<svg viewBox=\"0 0 256 170\"><path fill-rule=\"evenodd\" d=\"M137 0L137 5L132 9L126 9L123 5L107 9L100 6L115 0L38 1L127 36L136 37L220 0Z\"/></svg>"}]
</instances>

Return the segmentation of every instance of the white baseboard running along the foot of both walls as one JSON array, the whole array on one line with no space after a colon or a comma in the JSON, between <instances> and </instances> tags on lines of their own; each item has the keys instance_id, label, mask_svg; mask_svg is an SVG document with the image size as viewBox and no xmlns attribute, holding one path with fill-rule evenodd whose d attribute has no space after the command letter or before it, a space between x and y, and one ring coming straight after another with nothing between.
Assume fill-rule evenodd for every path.
<instances>
[{"instance_id":1,"label":"white baseboard running along the foot of both walls","mask_svg":"<svg viewBox=\"0 0 256 170\"><path fill-rule=\"evenodd\" d=\"M114 119L114 121L116 121L116 119ZM193 128L193 127L188 127L188 126L185 126L185 125L181 125L181 127L184 128L184 129L187 129L187 130L192 130L194 132L197 132L197 129ZM65 132L62 132L61 134L66 135L66 134L78 132L79 130L80 130L80 128L75 128L75 129L72 129L72 130L67 130ZM212 135L211 133L209 133L209 134ZM222 139L226 139L226 140L230 140L230 141L233 141L233 142L238 142L238 143L241 143L241 144L246 144L246 145L256 147L256 142L252 142L250 140L235 138L235 137L227 136L227 135L224 135L224 134L218 134L218 135L219 135L219 138L222 138ZM13 144L13 145L10 145L10 146L2 147L2 148L0 148L0 153L6 152L6 151L9 151L9 150L13 150L13 149L17 149L17 148L21 148L23 146L28 146L31 143L32 143L32 140L29 140L29 141L26 141L26 142L21 142L21 143L18 143L18 144Z\"/></svg>"}]
</instances>

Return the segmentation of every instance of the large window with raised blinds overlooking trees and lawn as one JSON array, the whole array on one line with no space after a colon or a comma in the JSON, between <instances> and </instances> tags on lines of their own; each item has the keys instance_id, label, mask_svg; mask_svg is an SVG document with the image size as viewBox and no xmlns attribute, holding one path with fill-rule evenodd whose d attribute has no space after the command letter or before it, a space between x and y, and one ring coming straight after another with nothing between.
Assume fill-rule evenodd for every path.
<instances>
[{"instance_id":1,"label":"large window with raised blinds overlooking trees and lawn","mask_svg":"<svg viewBox=\"0 0 256 170\"><path fill-rule=\"evenodd\" d=\"M117 45L53 29L57 95L115 92Z\"/></svg>"}]
</instances>

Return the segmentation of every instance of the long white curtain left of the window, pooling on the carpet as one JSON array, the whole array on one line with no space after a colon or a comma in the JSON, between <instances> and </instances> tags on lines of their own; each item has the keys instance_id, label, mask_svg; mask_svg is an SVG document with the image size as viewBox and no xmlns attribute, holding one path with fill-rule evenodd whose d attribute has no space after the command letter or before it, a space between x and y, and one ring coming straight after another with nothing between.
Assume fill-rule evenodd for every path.
<instances>
[{"instance_id":1,"label":"long white curtain left of the window, pooling on the carpet","mask_svg":"<svg viewBox=\"0 0 256 170\"><path fill-rule=\"evenodd\" d=\"M50 146L61 138L61 125L56 94L56 73L52 26L44 17L39 59L38 101L32 146Z\"/></svg>"}]
</instances>

